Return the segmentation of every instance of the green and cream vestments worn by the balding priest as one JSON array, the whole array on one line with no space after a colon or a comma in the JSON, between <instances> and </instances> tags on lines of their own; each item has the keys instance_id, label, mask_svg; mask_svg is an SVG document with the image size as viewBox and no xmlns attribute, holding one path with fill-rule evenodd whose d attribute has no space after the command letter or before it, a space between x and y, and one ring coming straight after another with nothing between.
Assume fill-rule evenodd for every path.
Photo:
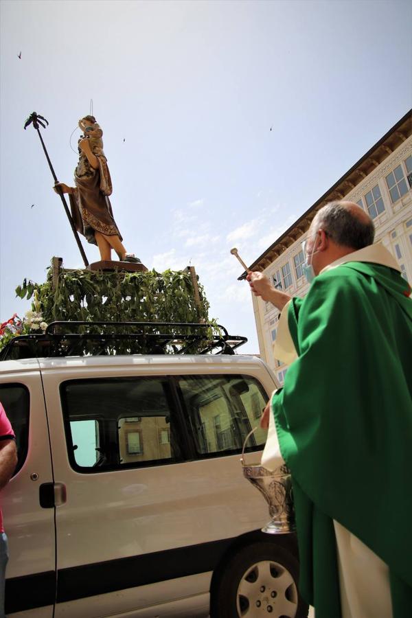
<instances>
[{"instance_id":1,"label":"green and cream vestments worn by the balding priest","mask_svg":"<svg viewBox=\"0 0 412 618\"><path fill-rule=\"evenodd\" d=\"M293 360L294 347L296 359L272 409L293 477L299 588L317 618L412 615L410 294L389 251L374 245L325 268L282 313L281 343L293 343L283 356ZM351 556L359 577L387 569L386 609L380 575L350 598Z\"/></svg>"}]
</instances>

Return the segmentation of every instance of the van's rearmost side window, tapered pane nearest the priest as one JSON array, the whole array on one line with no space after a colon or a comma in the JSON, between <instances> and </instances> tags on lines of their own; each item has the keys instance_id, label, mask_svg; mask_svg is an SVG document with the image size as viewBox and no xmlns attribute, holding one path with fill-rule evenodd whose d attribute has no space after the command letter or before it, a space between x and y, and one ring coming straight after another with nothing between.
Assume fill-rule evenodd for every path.
<instances>
[{"instance_id":1,"label":"van's rearmost side window, tapered pane nearest the priest","mask_svg":"<svg viewBox=\"0 0 412 618\"><path fill-rule=\"evenodd\" d=\"M268 400L250 376L181 376L179 389L199 456L241 450ZM266 430L259 427L247 446L261 446L265 440Z\"/></svg>"}]
</instances>

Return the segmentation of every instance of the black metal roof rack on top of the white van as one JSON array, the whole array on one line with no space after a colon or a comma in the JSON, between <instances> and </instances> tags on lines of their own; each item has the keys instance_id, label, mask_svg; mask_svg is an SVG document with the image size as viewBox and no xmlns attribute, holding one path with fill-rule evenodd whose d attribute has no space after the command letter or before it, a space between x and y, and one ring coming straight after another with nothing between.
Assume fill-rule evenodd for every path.
<instances>
[{"instance_id":1,"label":"black metal roof rack on top of the white van","mask_svg":"<svg viewBox=\"0 0 412 618\"><path fill-rule=\"evenodd\" d=\"M220 324L56 321L44 333L14 337L0 361L113 354L235 354L247 337Z\"/></svg>"}]
</instances>

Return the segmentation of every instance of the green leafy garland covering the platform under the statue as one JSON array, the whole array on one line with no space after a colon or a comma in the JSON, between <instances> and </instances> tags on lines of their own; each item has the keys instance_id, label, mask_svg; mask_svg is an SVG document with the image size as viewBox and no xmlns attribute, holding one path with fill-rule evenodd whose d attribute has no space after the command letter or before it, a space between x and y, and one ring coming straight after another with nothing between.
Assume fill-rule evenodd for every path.
<instances>
[{"instance_id":1,"label":"green leafy garland covering the platform under the statue","mask_svg":"<svg viewBox=\"0 0 412 618\"><path fill-rule=\"evenodd\" d=\"M45 322L52 321L139 321L207 323L209 303L203 286L198 284L201 298L199 306L194 295L192 277L187 271L147 271L128 273L122 271L87 271L62 269L57 285L53 285L52 268L44 284L25 279L16 288L20 298L36 296L38 310ZM157 328L158 332L184 334L181 327ZM95 327L95 332L98 328ZM91 332L91 328L87 329ZM128 328L130 331L130 328ZM81 328L80 328L81 331ZM93 329L92 329L93 332ZM117 330L118 332L118 330ZM155 332L155 330L153 331ZM204 332L204 331L203 331ZM208 333L209 335L211 334ZM207 335L206 334L206 339ZM198 352L205 341L197 343L190 352ZM150 343L117 342L106 346L106 353L151 352ZM175 352L163 349L159 352ZM82 344L80 354L96 353L95 343Z\"/></svg>"}]
</instances>

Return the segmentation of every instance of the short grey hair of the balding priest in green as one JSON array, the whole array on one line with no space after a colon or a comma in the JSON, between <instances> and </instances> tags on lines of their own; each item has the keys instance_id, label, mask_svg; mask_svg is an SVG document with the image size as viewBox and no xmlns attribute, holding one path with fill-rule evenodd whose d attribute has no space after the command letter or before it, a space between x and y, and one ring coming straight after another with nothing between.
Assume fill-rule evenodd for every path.
<instances>
[{"instance_id":1,"label":"short grey hair of the balding priest in green","mask_svg":"<svg viewBox=\"0 0 412 618\"><path fill-rule=\"evenodd\" d=\"M362 214L362 213L360 213ZM336 244L351 249L363 249L374 243L375 226L371 218L358 216L341 202L330 202L314 218L314 229L323 229Z\"/></svg>"}]
</instances>

